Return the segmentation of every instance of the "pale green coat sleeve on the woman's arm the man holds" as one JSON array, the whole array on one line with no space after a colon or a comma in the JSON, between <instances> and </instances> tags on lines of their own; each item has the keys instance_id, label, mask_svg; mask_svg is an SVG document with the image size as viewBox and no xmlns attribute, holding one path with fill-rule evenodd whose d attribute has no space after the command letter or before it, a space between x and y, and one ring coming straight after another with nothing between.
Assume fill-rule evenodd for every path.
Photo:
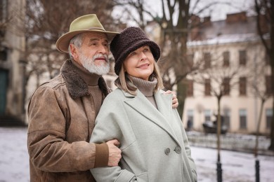
<instances>
[{"instance_id":1,"label":"pale green coat sleeve on the woman's arm the man holds","mask_svg":"<svg viewBox=\"0 0 274 182\"><path fill-rule=\"evenodd\" d=\"M115 101L109 97L110 95L107 96L100 108L90 142L100 144L111 139L117 139L121 144L119 148L123 151L123 148L126 148L132 144L135 141L135 138L128 130L131 127L128 126L130 125L129 122L126 122L126 120L129 120L129 118L126 116L122 101ZM91 173L98 182L145 182L142 179L139 179L138 176L132 172L129 172L126 169L122 169L119 166L97 167L91 169Z\"/></svg>"}]
</instances>

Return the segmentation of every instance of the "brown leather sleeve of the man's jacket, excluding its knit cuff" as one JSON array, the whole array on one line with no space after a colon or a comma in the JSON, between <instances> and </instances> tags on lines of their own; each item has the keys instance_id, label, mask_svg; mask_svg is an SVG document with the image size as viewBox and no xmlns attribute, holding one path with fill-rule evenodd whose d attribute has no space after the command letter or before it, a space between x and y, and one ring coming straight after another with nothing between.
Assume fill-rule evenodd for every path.
<instances>
[{"instance_id":1,"label":"brown leather sleeve of the man's jacket, excluding its knit cuff","mask_svg":"<svg viewBox=\"0 0 274 182\"><path fill-rule=\"evenodd\" d=\"M67 121L58 103L60 95L56 94L51 87L39 87L30 101L27 133L30 162L45 172L89 170L95 164L96 146L86 141L71 144L65 141Z\"/></svg>"}]
</instances>

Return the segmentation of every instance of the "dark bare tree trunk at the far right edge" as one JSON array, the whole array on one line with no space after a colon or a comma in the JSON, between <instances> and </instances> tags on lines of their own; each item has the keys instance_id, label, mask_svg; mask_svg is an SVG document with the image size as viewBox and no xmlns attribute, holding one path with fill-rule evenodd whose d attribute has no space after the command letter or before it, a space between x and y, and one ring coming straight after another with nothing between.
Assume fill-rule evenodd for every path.
<instances>
[{"instance_id":1,"label":"dark bare tree trunk at the far right edge","mask_svg":"<svg viewBox=\"0 0 274 182\"><path fill-rule=\"evenodd\" d=\"M271 66L271 85L272 96L274 96L274 1L271 0L254 0L255 10L257 13L257 29L261 41L266 48L267 55L270 59ZM274 99L273 99L274 113ZM270 131L270 151L274 151L274 117L272 117Z\"/></svg>"}]
</instances>

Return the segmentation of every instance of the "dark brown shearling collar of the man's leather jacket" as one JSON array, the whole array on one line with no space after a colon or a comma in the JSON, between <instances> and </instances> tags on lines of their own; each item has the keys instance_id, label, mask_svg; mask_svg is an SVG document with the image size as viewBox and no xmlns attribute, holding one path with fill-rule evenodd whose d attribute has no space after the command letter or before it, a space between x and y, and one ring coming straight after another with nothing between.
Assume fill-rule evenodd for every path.
<instances>
[{"instance_id":1,"label":"dark brown shearling collar of the man's leather jacket","mask_svg":"<svg viewBox=\"0 0 274 182\"><path fill-rule=\"evenodd\" d=\"M89 95L89 87L77 73L78 70L79 69L72 64L72 60L70 59L67 59L60 69L62 76L67 82L67 90L73 99ZM110 89L107 87L107 84L102 76L98 80L98 85L103 94L107 96Z\"/></svg>"}]
</instances>

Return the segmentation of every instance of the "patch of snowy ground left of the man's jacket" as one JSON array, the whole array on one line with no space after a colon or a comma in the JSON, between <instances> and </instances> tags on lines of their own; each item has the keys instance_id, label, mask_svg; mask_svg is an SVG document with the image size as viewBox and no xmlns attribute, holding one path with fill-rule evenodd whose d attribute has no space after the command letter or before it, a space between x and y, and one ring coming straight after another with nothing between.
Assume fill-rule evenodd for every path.
<instances>
[{"instance_id":1,"label":"patch of snowy ground left of the man's jacket","mask_svg":"<svg viewBox=\"0 0 274 182\"><path fill-rule=\"evenodd\" d=\"M26 127L0 127L0 156L0 182L30 181Z\"/></svg>"}]
</instances>

